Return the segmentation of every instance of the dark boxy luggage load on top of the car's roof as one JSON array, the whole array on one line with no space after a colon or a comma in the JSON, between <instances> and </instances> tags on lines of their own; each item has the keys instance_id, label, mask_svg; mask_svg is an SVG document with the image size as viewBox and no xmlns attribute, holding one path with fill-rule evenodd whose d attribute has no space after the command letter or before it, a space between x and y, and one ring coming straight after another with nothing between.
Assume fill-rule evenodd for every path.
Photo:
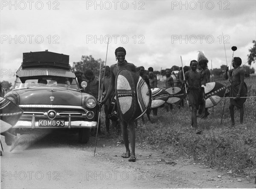
<instances>
[{"instance_id":1,"label":"dark boxy luggage load on top of the car's roof","mask_svg":"<svg viewBox=\"0 0 256 189\"><path fill-rule=\"evenodd\" d=\"M22 68L27 67L58 67L70 69L69 55L49 51L24 52Z\"/></svg>"}]
</instances>

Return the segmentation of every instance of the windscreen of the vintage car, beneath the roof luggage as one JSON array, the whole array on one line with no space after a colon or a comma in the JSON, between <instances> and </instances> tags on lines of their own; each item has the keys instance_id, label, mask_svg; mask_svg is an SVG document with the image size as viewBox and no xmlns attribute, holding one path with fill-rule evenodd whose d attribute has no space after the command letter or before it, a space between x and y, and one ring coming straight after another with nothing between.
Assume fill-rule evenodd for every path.
<instances>
[{"instance_id":1,"label":"windscreen of the vintage car, beneath the roof luggage","mask_svg":"<svg viewBox=\"0 0 256 189\"><path fill-rule=\"evenodd\" d=\"M76 78L59 76L17 77L14 89L28 87L63 87L80 90Z\"/></svg>"}]
</instances>

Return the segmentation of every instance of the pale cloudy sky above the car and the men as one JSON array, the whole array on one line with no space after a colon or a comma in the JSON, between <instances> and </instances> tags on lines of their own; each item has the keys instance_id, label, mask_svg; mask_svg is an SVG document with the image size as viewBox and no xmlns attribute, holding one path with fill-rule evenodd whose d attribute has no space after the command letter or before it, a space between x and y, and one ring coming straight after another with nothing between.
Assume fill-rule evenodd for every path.
<instances>
[{"instance_id":1,"label":"pale cloudy sky above the car and the men","mask_svg":"<svg viewBox=\"0 0 256 189\"><path fill-rule=\"evenodd\" d=\"M108 38L109 66L123 46L126 60L145 69L181 66L180 56L188 66L198 51L219 68L230 66L232 46L247 63L256 39L256 1L1 0L0 34L0 80L12 83L23 52L68 54L72 66L82 55L105 60Z\"/></svg>"}]
</instances>

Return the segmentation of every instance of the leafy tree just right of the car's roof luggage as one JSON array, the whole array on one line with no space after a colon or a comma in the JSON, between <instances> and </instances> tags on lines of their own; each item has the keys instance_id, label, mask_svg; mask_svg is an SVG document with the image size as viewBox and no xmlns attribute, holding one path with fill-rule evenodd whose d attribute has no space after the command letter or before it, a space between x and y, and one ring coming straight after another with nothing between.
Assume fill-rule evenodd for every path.
<instances>
[{"instance_id":1,"label":"leafy tree just right of the car's roof luggage","mask_svg":"<svg viewBox=\"0 0 256 189\"><path fill-rule=\"evenodd\" d=\"M92 55L83 55L80 62L73 62L72 70L73 72L80 71L84 73L86 70L90 69L95 75L99 76L100 63L102 63L101 68L103 68L105 62L101 59L95 60Z\"/></svg>"}]
</instances>

